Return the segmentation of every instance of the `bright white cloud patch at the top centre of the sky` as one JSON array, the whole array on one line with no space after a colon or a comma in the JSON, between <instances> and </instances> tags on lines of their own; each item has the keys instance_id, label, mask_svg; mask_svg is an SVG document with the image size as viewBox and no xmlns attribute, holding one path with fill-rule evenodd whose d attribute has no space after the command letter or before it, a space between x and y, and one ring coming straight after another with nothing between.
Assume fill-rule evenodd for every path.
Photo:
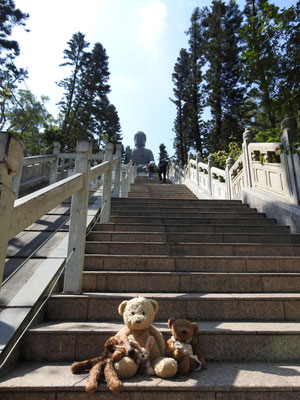
<instances>
[{"instance_id":1,"label":"bright white cloud patch at the top centre of the sky","mask_svg":"<svg viewBox=\"0 0 300 400\"><path fill-rule=\"evenodd\" d=\"M156 50L165 27L167 7L160 0L151 0L140 10L139 40L143 47Z\"/></svg>"}]
</instances>

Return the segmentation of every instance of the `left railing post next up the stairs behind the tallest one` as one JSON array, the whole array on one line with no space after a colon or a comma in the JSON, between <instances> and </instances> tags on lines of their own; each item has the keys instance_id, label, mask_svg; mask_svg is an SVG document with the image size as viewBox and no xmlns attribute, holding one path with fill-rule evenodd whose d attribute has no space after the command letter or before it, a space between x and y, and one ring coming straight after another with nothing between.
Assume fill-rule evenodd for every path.
<instances>
[{"instance_id":1,"label":"left railing post next up the stairs behind the tallest one","mask_svg":"<svg viewBox=\"0 0 300 400\"><path fill-rule=\"evenodd\" d=\"M113 143L106 143L104 161L110 161L110 167L108 171L104 173L103 178L103 192L102 192L102 210L100 216L100 222L106 224L110 218L110 203L111 203L111 183L112 183L112 159L113 159Z\"/></svg>"}]
</instances>

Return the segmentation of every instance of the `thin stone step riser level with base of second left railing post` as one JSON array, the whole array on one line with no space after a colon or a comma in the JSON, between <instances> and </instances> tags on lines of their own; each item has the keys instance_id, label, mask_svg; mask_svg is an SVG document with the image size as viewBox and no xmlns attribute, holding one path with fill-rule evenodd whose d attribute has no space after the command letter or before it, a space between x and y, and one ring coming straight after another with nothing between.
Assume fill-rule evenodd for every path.
<instances>
[{"instance_id":1,"label":"thin stone step riser level with base of second left railing post","mask_svg":"<svg viewBox=\"0 0 300 400\"><path fill-rule=\"evenodd\" d=\"M236 213L230 217L227 214L220 213L220 216L212 214L210 217L206 214L196 213L194 217L152 217L152 216L111 216L110 222L113 223L143 223L143 224L213 224L213 225L276 225L276 220L273 218L266 219L262 214L247 214L236 218Z\"/></svg>"}]
</instances>

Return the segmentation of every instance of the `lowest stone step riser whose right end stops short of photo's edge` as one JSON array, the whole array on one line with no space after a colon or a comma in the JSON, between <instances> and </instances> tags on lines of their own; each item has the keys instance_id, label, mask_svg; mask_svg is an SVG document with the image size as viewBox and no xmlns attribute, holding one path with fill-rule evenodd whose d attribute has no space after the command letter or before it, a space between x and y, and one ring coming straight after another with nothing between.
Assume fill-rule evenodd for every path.
<instances>
[{"instance_id":1,"label":"lowest stone step riser whose right end stops short of photo's edge","mask_svg":"<svg viewBox=\"0 0 300 400\"><path fill-rule=\"evenodd\" d=\"M206 232L206 233L276 233L287 234L288 226L280 225L213 225L213 224L143 224L143 223L96 223L95 231L111 232Z\"/></svg>"}]
</instances>

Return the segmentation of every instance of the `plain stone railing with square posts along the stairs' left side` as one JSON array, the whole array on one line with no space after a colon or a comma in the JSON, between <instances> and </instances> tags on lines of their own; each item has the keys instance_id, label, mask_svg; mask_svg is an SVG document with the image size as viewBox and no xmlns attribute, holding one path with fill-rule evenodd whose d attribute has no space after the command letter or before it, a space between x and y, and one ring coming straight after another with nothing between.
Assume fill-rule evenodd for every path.
<instances>
[{"instance_id":1,"label":"plain stone railing with square posts along the stairs' left side","mask_svg":"<svg viewBox=\"0 0 300 400\"><path fill-rule=\"evenodd\" d=\"M72 196L68 263L66 265L64 290L68 293L81 292L90 182L104 175L100 214L102 222L109 220L113 168L115 168L113 193L116 197L120 194L121 147L116 146L117 152L114 157L112 155L113 148L113 144L108 143L105 161L90 167L92 159L90 143L84 140L78 141L77 153L74 153L76 157L75 173L72 176L16 200L16 193L12 189L12 178L18 174L22 163L24 165L24 160L25 163L29 163L29 161L23 159L23 147L18 140L7 132L0 133L0 224L2 232L0 238L0 283L2 282L8 241L62 201ZM73 158L74 154L64 155L63 158ZM43 161L45 160L44 157L49 161L49 158L51 159L53 155L42 157ZM94 157L94 159L100 160L100 157ZM132 178L134 176L133 166L129 169L128 176L131 183L134 179ZM104 213L104 218L102 218L102 213Z\"/></svg>"}]
</instances>

